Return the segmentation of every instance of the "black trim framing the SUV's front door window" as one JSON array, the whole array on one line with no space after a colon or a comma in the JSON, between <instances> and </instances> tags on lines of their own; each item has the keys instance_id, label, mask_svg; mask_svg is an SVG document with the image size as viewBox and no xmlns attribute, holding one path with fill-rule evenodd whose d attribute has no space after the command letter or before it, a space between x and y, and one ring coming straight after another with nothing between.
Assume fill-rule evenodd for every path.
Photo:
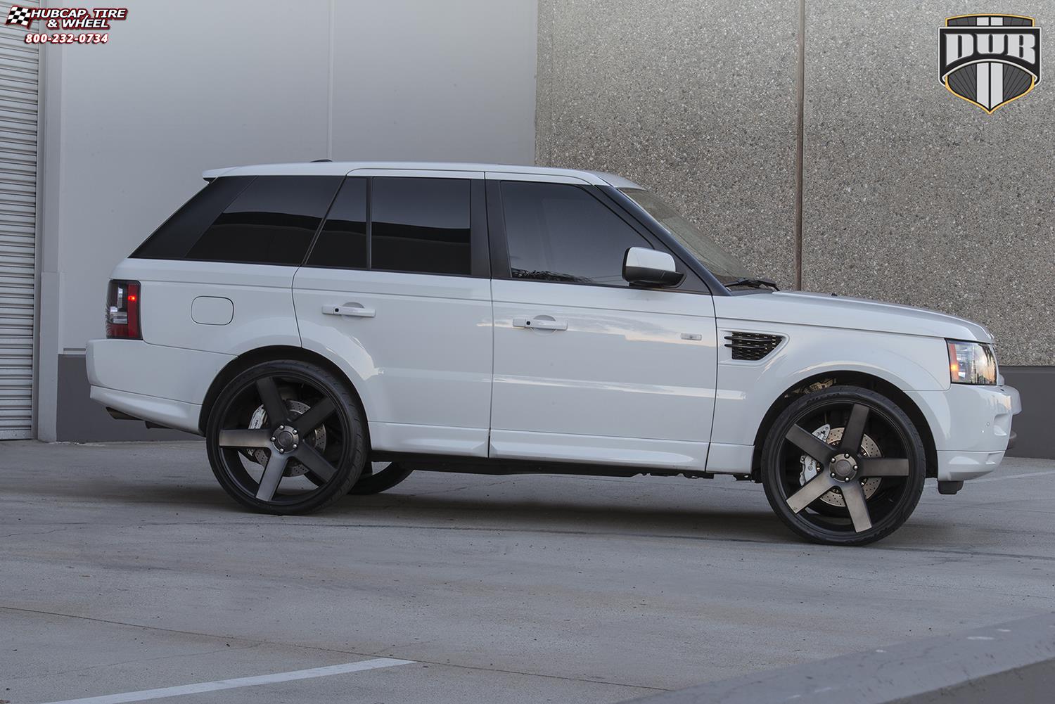
<instances>
[{"instance_id":1,"label":"black trim framing the SUV's front door window","mask_svg":"<svg viewBox=\"0 0 1055 704\"><path fill-rule=\"evenodd\" d=\"M621 207L621 205L610 197L603 190L592 184L569 184L565 182L531 180L526 178L488 178L487 179L487 225L491 234L491 270L493 279L510 281L532 281L531 279L514 279L510 267L509 239L505 229L505 210L502 205L501 184L503 183L531 183L551 184L558 186L570 186L584 191L602 206L608 208L616 217L625 222L637 234L639 234L653 249L666 251L676 261L680 262L685 271L685 279L677 286L663 287L635 286L635 289L673 291L678 293L696 293L711 296L711 288L707 285L706 279L702 278L698 267L693 267L685 261L680 248L673 249L669 245L669 237L661 237L652 228L638 221L635 213ZM676 243L674 243L676 244ZM695 260L693 260L695 261ZM708 274L710 272L707 272ZM716 281L716 280L715 280ZM597 284L576 281L537 281L540 284L557 284L560 286L596 286L600 288L627 289L625 284Z\"/></svg>"}]
</instances>

